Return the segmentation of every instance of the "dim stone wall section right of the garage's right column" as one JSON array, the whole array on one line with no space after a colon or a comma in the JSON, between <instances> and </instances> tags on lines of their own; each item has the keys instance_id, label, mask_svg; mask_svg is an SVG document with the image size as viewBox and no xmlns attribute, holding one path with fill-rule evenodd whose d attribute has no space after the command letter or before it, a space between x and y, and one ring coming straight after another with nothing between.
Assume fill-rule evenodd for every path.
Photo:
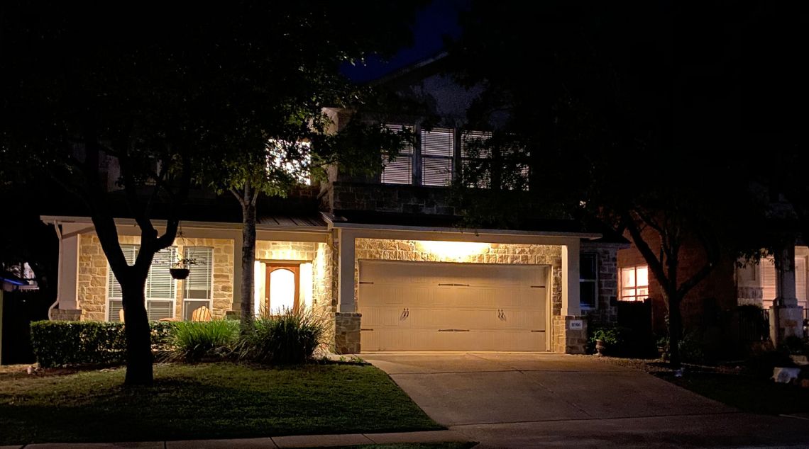
<instances>
[{"instance_id":1,"label":"dim stone wall section right of the garage's right column","mask_svg":"<svg viewBox=\"0 0 809 449\"><path fill-rule=\"evenodd\" d=\"M598 263L599 303L595 310L582 310L592 325L616 325L618 322L618 250L621 245L582 242L582 253L596 254Z\"/></svg>"}]
</instances>

